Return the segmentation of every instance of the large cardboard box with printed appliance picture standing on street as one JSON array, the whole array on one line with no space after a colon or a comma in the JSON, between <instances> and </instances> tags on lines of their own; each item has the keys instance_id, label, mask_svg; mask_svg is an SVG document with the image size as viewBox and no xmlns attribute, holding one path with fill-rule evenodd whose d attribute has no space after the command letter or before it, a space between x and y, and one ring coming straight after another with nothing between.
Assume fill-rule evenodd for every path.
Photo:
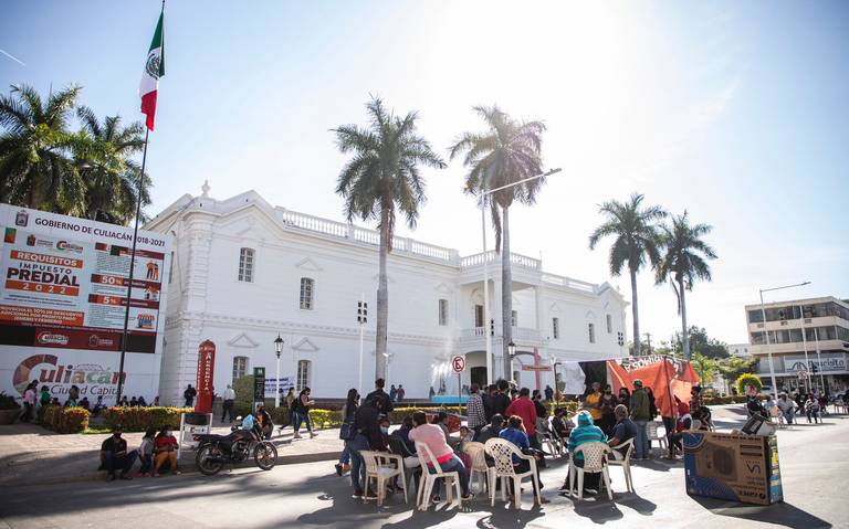
<instances>
[{"instance_id":1,"label":"large cardboard box with printed appliance picture standing on street","mask_svg":"<svg viewBox=\"0 0 849 529\"><path fill-rule=\"evenodd\" d=\"M684 432L686 494L769 505L783 500L774 435Z\"/></svg>"}]
</instances>

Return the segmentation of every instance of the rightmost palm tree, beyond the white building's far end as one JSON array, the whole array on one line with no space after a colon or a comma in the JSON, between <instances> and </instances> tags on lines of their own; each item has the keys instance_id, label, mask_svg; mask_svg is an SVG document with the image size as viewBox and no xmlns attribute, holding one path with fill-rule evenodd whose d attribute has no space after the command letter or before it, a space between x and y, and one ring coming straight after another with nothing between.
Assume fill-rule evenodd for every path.
<instances>
[{"instance_id":1,"label":"rightmost palm tree, beyond the white building's far end","mask_svg":"<svg viewBox=\"0 0 849 529\"><path fill-rule=\"evenodd\" d=\"M684 290L692 290L695 279L711 281L708 260L715 260L713 248L702 236L713 230L708 224L690 225L688 213L672 216L672 226L663 226L661 243L664 254L657 266L656 281L670 281L678 297L678 314L681 315L681 336L684 360L690 360L690 338L686 331L686 303Z\"/></svg>"}]
</instances>

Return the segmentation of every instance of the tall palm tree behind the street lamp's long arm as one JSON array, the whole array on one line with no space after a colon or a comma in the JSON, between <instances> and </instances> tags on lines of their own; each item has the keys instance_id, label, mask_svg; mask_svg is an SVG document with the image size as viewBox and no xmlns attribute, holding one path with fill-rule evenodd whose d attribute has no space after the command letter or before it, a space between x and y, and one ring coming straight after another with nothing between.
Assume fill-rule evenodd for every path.
<instances>
[{"instance_id":1,"label":"tall palm tree behind the street lamp's long arm","mask_svg":"<svg viewBox=\"0 0 849 529\"><path fill-rule=\"evenodd\" d=\"M465 192L479 197L482 208L490 208L495 228L495 252L501 252L501 325L504 378L510 379L512 359L507 345L513 341L513 274L510 261L510 207L514 201L533 204L545 178L513 186L492 194L488 190L518 182L543 172L542 121L520 121L496 105L476 106L486 130L464 133L450 149L451 159L465 154L463 166L469 168ZM501 211L499 211L499 208ZM485 256L484 256L485 258ZM489 288L484 285L484 288ZM484 326L489 322L484 321Z\"/></svg>"}]
</instances>

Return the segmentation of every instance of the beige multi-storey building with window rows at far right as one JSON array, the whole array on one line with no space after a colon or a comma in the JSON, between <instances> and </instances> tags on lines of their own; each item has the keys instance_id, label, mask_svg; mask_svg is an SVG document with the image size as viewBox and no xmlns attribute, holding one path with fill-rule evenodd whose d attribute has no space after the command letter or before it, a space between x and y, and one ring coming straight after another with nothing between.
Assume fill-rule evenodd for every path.
<instances>
[{"instance_id":1,"label":"beige multi-storey building with window rows at far right","mask_svg":"<svg viewBox=\"0 0 849 529\"><path fill-rule=\"evenodd\" d=\"M772 383L771 352L779 390L810 387L835 393L849 384L846 300L821 297L769 303L764 311L761 305L747 305L746 324L750 351L758 358L757 374L765 384ZM765 332L769 334L768 345Z\"/></svg>"}]
</instances>

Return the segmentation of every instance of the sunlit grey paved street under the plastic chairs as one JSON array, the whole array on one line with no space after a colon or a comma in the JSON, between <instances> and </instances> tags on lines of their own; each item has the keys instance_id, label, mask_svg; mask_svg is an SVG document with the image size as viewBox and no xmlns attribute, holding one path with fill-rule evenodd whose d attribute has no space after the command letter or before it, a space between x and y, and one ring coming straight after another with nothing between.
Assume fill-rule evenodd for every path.
<instances>
[{"instance_id":1,"label":"sunlit grey paved street under the plastic chairs","mask_svg":"<svg viewBox=\"0 0 849 529\"><path fill-rule=\"evenodd\" d=\"M729 410L715 415L721 426L738 423ZM521 511L501 501L491 508L479 497L461 510L417 512L400 496L378 510L374 504L352 499L348 478L336 477L332 463L324 462L214 477L4 486L0 527L849 527L842 494L849 473L847 435L846 415L832 415L825 425L780 431L785 502L769 507L689 497L680 462L650 462L635 468L636 495L622 493L621 470L611 469L614 502L605 497L574 505L557 496L566 469L555 463L543 475L545 496L552 500L544 509L533 507L526 493Z\"/></svg>"}]
</instances>

